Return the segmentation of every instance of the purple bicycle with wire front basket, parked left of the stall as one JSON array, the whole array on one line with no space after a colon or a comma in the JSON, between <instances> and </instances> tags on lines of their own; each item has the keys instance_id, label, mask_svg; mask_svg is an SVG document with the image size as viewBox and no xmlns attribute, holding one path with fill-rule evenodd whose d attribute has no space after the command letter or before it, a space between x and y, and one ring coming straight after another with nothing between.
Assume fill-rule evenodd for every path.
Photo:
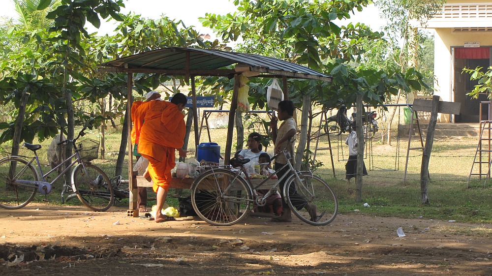
<instances>
[{"instance_id":1,"label":"purple bicycle with wire front basket, parked left of the stall","mask_svg":"<svg viewBox=\"0 0 492 276\"><path fill-rule=\"evenodd\" d=\"M34 157L16 155L0 159L0 207L10 210L20 209L28 205L37 192L44 195L47 201L47 195L52 191L53 183L78 163L72 170L70 185L66 182L63 184L62 203L65 202L64 193L71 192L66 200L77 196L82 204L93 211L108 210L114 202L113 186L106 174L91 163L91 160L97 158L99 143L91 139L77 143L77 139L85 135L86 128L87 125L82 128L75 139L66 139L58 143L58 145L71 143L74 154L46 174L43 174L36 153L41 149L41 145L23 144L34 153ZM71 161L72 158L75 160ZM37 164L37 169L33 163ZM46 177L64 164L68 166L53 181L46 182Z\"/></svg>"}]
</instances>

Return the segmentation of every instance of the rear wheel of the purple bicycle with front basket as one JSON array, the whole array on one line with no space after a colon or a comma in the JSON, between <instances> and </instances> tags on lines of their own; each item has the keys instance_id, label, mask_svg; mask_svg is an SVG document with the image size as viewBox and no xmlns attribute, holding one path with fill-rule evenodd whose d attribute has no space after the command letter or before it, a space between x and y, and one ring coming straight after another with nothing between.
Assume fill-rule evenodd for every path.
<instances>
[{"instance_id":1,"label":"rear wheel of the purple bicycle with front basket","mask_svg":"<svg viewBox=\"0 0 492 276\"><path fill-rule=\"evenodd\" d=\"M10 171L10 168L15 170ZM34 198L36 187L16 184L16 180L38 181L37 171L25 159L7 157L0 160L0 207L19 209L26 206Z\"/></svg>"}]
</instances>

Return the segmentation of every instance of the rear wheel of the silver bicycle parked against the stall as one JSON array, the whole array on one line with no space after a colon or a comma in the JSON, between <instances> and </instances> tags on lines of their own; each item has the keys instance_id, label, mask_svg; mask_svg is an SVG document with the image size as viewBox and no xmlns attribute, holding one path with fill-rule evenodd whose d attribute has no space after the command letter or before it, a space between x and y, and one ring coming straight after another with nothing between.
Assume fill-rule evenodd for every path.
<instances>
[{"instance_id":1,"label":"rear wheel of the silver bicycle parked against the stall","mask_svg":"<svg viewBox=\"0 0 492 276\"><path fill-rule=\"evenodd\" d=\"M252 202L251 189L241 176L229 170L203 173L191 187L196 214L212 225L233 225L246 217Z\"/></svg>"}]
</instances>

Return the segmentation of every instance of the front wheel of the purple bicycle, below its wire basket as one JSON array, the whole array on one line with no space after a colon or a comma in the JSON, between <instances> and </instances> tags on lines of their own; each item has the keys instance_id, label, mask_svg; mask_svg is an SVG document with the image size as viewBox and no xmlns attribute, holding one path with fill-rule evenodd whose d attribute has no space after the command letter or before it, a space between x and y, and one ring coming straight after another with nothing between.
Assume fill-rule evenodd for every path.
<instances>
[{"instance_id":1,"label":"front wheel of the purple bicycle, below its wire basket","mask_svg":"<svg viewBox=\"0 0 492 276\"><path fill-rule=\"evenodd\" d=\"M114 191L111 181L97 166L84 163L72 172L72 188L80 202L96 212L104 212L113 205Z\"/></svg>"}]
</instances>

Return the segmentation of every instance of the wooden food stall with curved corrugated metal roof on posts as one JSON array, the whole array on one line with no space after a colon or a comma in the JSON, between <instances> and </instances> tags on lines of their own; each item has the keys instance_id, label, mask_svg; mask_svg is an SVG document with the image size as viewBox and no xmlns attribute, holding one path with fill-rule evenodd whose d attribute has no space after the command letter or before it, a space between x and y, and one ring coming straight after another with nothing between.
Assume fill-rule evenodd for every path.
<instances>
[{"instance_id":1,"label":"wooden food stall with curved corrugated metal roof on posts","mask_svg":"<svg viewBox=\"0 0 492 276\"><path fill-rule=\"evenodd\" d=\"M230 66L235 64L235 68ZM227 68L229 67L229 68ZM238 92L241 74L248 77L260 78L280 78L284 98L288 99L287 78L293 79L311 79L331 82L332 77L309 69L305 66L292 63L289 61L278 60L275 58L264 57L260 55L225 52L215 49L199 48L180 48L171 47L139 53L136 55L123 57L114 61L101 64L101 71L107 72L124 72L128 74L127 89L128 95L132 94L133 74L150 73L163 74L170 76L184 76L185 80L191 83L191 96L193 99L193 125L195 133L195 146L200 144L198 135L198 118L196 112L196 89L195 77L197 76L222 76L234 78L234 89L232 93L231 108L229 113L229 126L227 131L227 141L225 146L225 164L229 164L232 148L233 127L238 102ZM130 97L131 98L131 97ZM130 113L131 100L127 97L127 115ZM128 129L131 129L131 120L127 120ZM130 131L128 131L128 175L133 171L132 148L130 142ZM173 187L189 187L192 180L173 180ZM176 184L174 184L176 183ZM137 206L137 186L129 180L130 203L128 214L137 214L133 212L138 210Z\"/></svg>"}]
</instances>

